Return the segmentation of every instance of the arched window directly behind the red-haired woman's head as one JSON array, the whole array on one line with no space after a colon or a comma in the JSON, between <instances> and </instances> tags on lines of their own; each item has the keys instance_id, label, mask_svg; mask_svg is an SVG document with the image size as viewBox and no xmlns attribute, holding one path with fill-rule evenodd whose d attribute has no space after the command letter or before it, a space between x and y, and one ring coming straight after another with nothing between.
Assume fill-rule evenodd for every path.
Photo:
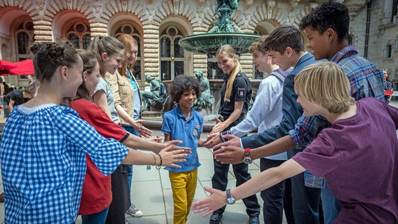
<instances>
[{"instance_id":1,"label":"arched window directly behind the red-haired woman's head","mask_svg":"<svg viewBox=\"0 0 398 224\"><path fill-rule=\"evenodd\" d=\"M135 38L135 41L137 41L138 53L137 53L137 59L133 67L134 70L133 72L137 80L142 80L143 60L141 55L141 33L137 28L133 27L131 24L123 24L116 29L116 34L114 36L115 38L118 38L118 36L121 36L121 34L130 34L132 38Z\"/></svg>"}]
</instances>

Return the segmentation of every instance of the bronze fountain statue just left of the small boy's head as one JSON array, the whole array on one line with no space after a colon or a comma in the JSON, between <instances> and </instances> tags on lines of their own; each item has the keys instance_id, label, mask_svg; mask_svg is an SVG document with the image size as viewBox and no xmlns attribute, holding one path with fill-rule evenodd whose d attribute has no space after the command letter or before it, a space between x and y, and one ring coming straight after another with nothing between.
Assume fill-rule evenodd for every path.
<instances>
[{"instance_id":1,"label":"bronze fountain statue just left of the small boy's head","mask_svg":"<svg viewBox=\"0 0 398 224\"><path fill-rule=\"evenodd\" d=\"M152 106L158 103L163 104L167 99L167 94L164 90L165 86L158 78L146 76L145 81L151 84L151 91L141 91L142 103L144 104L142 111L149 111L149 104Z\"/></svg>"}]
</instances>

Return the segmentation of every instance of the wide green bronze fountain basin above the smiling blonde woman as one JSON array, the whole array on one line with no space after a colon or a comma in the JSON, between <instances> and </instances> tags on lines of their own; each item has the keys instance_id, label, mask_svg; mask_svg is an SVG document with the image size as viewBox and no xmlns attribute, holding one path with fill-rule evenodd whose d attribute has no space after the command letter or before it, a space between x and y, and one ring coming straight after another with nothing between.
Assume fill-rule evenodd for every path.
<instances>
[{"instance_id":1,"label":"wide green bronze fountain basin above the smiling blonde woman","mask_svg":"<svg viewBox=\"0 0 398 224\"><path fill-rule=\"evenodd\" d=\"M238 54L247 52L258 34L245 33L210 33L186 36L179 40L185 50L201 54L215 55L221 45L230 44Z\"/></svg>"}]
</instances>

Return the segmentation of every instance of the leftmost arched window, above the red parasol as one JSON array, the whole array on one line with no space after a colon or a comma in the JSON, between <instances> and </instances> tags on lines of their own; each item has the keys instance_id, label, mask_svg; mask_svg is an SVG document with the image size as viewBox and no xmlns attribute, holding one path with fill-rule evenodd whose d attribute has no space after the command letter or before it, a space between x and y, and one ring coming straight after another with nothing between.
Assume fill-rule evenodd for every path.
<instances>
[{"instance_id":1,"label":"leftmost arched window, above the red parasol","mask_svg":"<svg viewBox=\"0 0 398 224\"><path fill-rule=\"evenodd\" d=\"M29 50L34 42L33 22L21 22L16 32L17 61L22 61L32 57Z\"/></svg>"}]
</instances>

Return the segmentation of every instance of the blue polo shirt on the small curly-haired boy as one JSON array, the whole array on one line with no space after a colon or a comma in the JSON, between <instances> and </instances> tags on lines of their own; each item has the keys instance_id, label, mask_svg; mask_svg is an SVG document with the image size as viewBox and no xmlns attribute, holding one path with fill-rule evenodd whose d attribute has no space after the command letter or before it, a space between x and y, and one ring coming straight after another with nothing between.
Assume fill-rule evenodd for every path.
<instances>
[{"instance_id":1,"label":"blue polo shirt on the small curly-haired boy","mask_svg":"<svg viewBox=\"0 0 398 224\"><path fill-rule=\"evenodd\" d=\"M177 163L177 165L181 166L181 169L173 167L166 167L165 169L171 172L188 172L200 166L196 148L198 148L200 134L203 132L203 116L201 113L191 109L191 116L188 120L185 120L181 109L179 109L179 106L176 106L163 115L162 132L170 134L172 140L183 141L178 146L188 147L192 150L192 153L188 155L185 162Z\"/></svg>"}]
</instances>

